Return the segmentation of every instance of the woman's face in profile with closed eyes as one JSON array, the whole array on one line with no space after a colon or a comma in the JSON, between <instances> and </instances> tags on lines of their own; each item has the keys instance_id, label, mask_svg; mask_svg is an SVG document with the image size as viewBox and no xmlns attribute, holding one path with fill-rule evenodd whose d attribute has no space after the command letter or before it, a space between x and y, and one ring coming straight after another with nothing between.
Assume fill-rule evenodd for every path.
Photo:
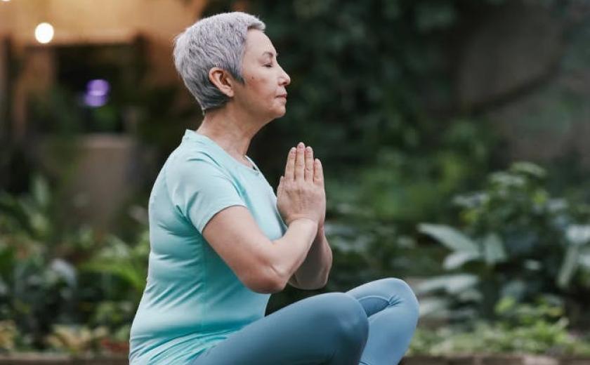
<instances>
[{"instance_id":1,"label":"woman's face in profile with closed eyes","mask_svg":"<svg viewBox=\"0 0 590 365\"><path fill-rule=\"evenodd\" d=\"M244 59L244 84L237 84L234 100L249 114L272 120L286 112L287 85L291 82L277 62L277 51L268 36L259 30L248 31Z\"/></svg>"}]
</instances>

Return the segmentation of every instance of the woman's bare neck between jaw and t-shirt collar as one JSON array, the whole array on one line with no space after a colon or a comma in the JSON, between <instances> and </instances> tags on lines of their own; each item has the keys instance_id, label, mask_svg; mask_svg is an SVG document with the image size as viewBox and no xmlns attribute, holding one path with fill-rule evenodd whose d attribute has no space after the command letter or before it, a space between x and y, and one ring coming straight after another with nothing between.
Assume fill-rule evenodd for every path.
<instances>
[{"instance_id":1,"label":"woman's bare neck between jaw and t-shirt collar","mask_svg":"<svg viewBox=\"0 0 590 365\"><path fill-rule=\"evenodd\" d=\"M224 107L206 112L197 133L206 135L230 155L243 160L250 141L264 124L228 103Z\"/></svg>"}]
</instances>

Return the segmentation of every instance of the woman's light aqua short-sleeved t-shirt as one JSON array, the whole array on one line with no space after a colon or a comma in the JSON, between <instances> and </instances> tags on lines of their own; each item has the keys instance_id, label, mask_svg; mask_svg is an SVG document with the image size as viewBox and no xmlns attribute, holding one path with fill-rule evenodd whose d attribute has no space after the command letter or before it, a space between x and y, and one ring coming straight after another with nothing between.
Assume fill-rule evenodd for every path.
<instances>
[{"instance_id":1,"label":"woman's light aqua short-sleeved t-shirt","mask_svg":"<svg viewBox=\"0 0 590 365\"><path fill-rule=\"evenodd\" d=\"M279 239L287 227L276 203L257 166L241 164L204 135L185 132L150 195L149 267L131 326L131 364L188 364L264 317L270 295L244 286L202 231L223 208L245 206L268 239Z\"/></svg>"}]
</instances>

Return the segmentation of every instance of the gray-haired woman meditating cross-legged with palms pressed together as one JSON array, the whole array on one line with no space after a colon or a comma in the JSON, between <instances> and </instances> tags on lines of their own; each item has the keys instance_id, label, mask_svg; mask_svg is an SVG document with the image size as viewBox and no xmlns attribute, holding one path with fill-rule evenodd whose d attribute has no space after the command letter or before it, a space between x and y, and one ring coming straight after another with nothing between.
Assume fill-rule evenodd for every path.
<instances>
[{"instance_id":1,"label":"gray-haired woman meditating cross-legged with palms pressed together","mask_svg":"<svg viewBox=\"0 0 590 365\"><path fill-rule=\"evenodd\" d=\"M290 79L252 15L199 20L174 61L202 108L160 171L149 203L147 285L131 327L131 364L397 364L418 303L399 279L313 296L264 317L287 283L325 286L320 160L299 143L273 192L246 153L282 117Z\"/></svg>"}]
</instances>

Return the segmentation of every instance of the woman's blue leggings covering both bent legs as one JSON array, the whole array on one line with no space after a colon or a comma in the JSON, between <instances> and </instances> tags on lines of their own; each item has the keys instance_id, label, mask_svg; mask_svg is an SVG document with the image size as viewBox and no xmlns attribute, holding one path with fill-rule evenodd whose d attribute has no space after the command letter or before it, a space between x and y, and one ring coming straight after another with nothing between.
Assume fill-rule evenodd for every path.
<instances>
[{"instance_id":1,"label":"woman's blue leggings covering both bent legs","mask_svg":"<svg viewBox=\"0 0 590 365\"><path fill-rule=\"evenodd\" d=\"M418 312L405 281L371 281L287 305L232 333L192 365L398 364Z\"/></svg>"}]
</instances>

